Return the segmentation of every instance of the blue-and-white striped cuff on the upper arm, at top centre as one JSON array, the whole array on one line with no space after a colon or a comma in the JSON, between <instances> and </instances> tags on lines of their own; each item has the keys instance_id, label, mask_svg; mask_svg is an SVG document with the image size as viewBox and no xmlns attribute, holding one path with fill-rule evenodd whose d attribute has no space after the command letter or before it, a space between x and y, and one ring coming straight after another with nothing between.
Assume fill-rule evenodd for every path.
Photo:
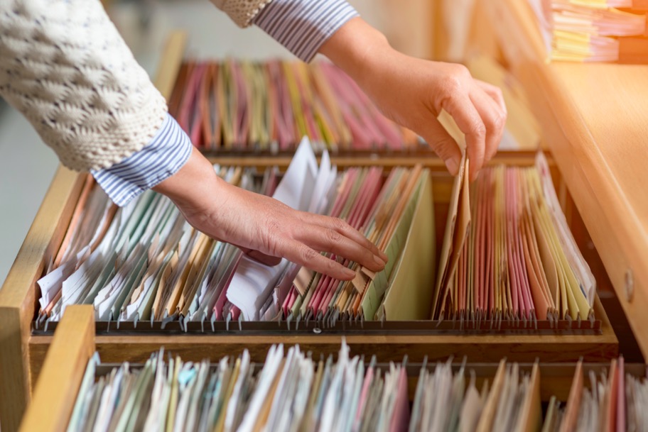
<instances>
[{"instance_id":1,"label":"blue-and-white striped cuff on the upper arm, at top centre","mask_svg":"<svg viewBox=\"0 0 648 432\"><path fill-rule=\"evenodd\" d=\"M351 18L359 16L345 0L272 0L254 23L305 62Z\"/></svg>"}]
</instances>

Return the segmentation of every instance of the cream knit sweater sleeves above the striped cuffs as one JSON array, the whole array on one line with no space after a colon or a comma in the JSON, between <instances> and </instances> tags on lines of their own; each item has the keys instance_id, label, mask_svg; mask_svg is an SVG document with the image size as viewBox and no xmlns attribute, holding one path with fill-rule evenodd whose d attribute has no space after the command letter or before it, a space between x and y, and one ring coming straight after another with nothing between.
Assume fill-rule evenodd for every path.
<instances>
[{"instance_id":1,"label":"cream knit sweater sleeves above the striped cuffs","mask_svg":"<svg viewBox=\"0 0 648 432\"><path fill-rule=\"evenodd\" d=\"M213 0L247 26L268 0ZM166 101L99 0L0 0L0 95L72 170L146 145Z\"/></svg>"}]
</instances>

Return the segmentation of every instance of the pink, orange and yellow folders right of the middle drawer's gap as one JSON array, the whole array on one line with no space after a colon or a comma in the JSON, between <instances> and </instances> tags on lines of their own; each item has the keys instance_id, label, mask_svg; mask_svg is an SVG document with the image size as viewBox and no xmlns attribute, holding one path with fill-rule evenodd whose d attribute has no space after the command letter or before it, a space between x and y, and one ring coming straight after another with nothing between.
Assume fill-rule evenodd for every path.
<instances>
[{"instance_id":1,"label":"pink, orange and yellow folders right of the middle drawer's gap","mask_svg":"<svg viewBox=\"0 0 648 432\"><path fill-rule=\"evenodd\" d=\"M542 153L534 167L455 179L432 319L591 319L595 279L571 236Z\"/></svg>"}]
</instances>

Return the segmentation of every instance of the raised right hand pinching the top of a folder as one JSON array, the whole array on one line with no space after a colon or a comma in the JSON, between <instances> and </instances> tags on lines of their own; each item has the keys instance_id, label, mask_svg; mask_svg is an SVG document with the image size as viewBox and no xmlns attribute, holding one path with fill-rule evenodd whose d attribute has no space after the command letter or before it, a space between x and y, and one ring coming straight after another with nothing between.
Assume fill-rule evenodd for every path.
<instances>
[{"instance_id":1,"label":"raised right hand pinching the top of a folder","mask_svg":"<svg viewBox=\"0 0 648 432\"><path fill-rule=\"evenodd\" d=\"M320 52L355 79L387 117L421 135L453 175L461 152L436 119L442 109L465 133L471 180L497 153L507 118L502 92L471 77L463 65L403 55L361 18L345 23Z\"/></svg>"}]
</instances>

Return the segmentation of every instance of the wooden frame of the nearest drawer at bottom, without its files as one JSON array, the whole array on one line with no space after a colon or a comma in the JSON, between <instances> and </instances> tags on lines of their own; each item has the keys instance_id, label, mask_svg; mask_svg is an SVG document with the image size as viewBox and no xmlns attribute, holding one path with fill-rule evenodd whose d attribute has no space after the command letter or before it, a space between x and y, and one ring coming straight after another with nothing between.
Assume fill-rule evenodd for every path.
<instances>
[{"instance_id":1,"label":"wooden frame of the nearest drawer at bottom, without its files","mask_svg":"<svg viewBox=\"0 0 648 432\"><path fill-rule=\"evenodd\" d=\"M58 330L55 332L52 347L45 358L43 372L41 377L38 378L33 401L22 420L20 431L64 431L67 427L85 372L85 365L87 365L96 348L92 316L92 306L70 306L66 310L63 321L61 321ZM306 347L302 347L302 349L306 350ZM173 349L171 352L176 353ZM370 350L367 351L367 353L370 352ZM202 358L210 358L212 362L218 360L217 356L209 355L211 353L203 354ZM229 353L228 355L233 354ZM144 357L148 358L149 355L150 353L146 353ZM186 359L183 358L183 360ZM263 362L263 360L260 361ZM105 362L104 358L102 358L102 362ZM606 370L606 366L603 364L585 364L583 365L583 373L590 370L599 373ZM114 364L111 365L110 363L99 365L97 375L109 373L112 367L114 367ZM133 367L137 366L134 365ZM382 366L379 365L379 367ZM385 365L385 367L387 366ZM458 367L460 367L460 363L453 365L455 371L458 370ZM465 365L466 373L468 371L475 373L477 389L482 388L485 381L492 383L497 369L497 362L468 362ZM406 367L411 400L414 399L414 389L416 389L420 370L420 363L409 363ZM573 362L560 364L540 363L539 365L521 363L519 364L519 370L531 376L529 394L532 396L525 399L531 406L523 409L522 412L523 415L529 417L524 421L524 424L527 425L524 430L532 431L536 430L538 421L541 420L543 415L541 413L541 401L549 401L552 396L555 396L559 401L568 401L570 399L570 389L577 365ZM646 371L645 365L625 366L625 372L634 377L645 377ZM536 373L534 374L534 372Z\"/></svg>"}]
</instances>

